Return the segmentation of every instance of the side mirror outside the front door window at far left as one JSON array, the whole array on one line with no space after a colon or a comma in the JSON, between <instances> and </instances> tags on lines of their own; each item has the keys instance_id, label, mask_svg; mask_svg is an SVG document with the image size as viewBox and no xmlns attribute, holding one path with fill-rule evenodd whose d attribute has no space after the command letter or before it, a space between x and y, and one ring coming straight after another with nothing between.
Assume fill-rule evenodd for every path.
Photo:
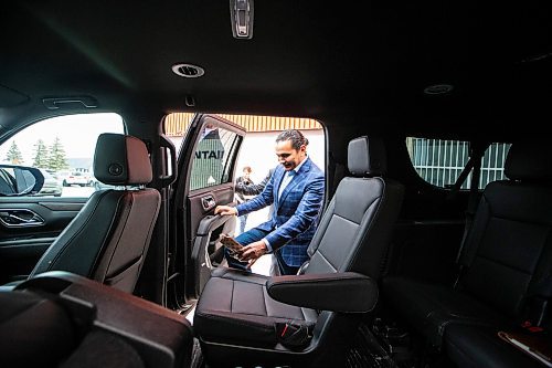
<instances>
[{"instance_id":1,"label":"side mirror outside the front door window at far left","mask_svg":"<svg viewBox=\"0 0 552 368\"><path fill-rule=\"evenodd\" d=\"M34 167L0 165L0 197L33 196L44 185L44 176Z\"/></svg>"}]
</instances>

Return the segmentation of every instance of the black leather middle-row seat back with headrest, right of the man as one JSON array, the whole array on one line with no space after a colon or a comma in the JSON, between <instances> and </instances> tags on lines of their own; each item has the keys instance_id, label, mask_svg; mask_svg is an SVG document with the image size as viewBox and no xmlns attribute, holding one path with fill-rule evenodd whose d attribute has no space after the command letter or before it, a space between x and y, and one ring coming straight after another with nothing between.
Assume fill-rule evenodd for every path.
<instances>
[{"instance_id":1,"label":"black leather middle-row seat back with headrest, right of the man","mask_svg":"<svg viewBox=\"0 0 552 368\"><path fill-rule=\"evenodd\" d=\"M404 187L384 178L386 156L380 139L351 140L348 168L351 176L341 180L326 209L302 273L351 271L378 280Z\"/></svg>"}]
</instances>

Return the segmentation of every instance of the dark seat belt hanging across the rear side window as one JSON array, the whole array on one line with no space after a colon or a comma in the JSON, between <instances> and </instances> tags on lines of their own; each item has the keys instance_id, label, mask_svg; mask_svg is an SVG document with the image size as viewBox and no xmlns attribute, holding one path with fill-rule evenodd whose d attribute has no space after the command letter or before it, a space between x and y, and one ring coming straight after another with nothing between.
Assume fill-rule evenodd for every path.
<instances>
[{"instance_id":1,"label":"dark seat belt hanging across the rear side window","mask_svg":"<svg viewBox=\"0 0 552 368\"><path fill-rule=\"evenodd\" d=\"M469 160L466 164L466 167L464 170L460 172L458 176L458 179L454 183L454 187L450 190L449 198L455 197L458 191L460 190L461 186L464 185L464 181L466 181L469 172L471 171L471 180L469 183L469 198L468 198L468 206L466 208L465 212L465 225L464 225L464 234L461 235L461 241L460 241L460 246L458 249L458 254L456 256L456 262L458 263L464 246L466 244L466 239L468 236L469 230L471 229L471 224L474 222L474 217L477 211L477 206L479 203L479 178L481 177L481 159L482 156L485 155L485 151L487 150L487 147L489 147L489 143L474 143L470 147L470 153L469 153ZM464 271L464 265L460 264L458 267L458 275L456 277L456 281L454 283L454 288L458 286L460 276Z\"/></svg>"}]
</instances>

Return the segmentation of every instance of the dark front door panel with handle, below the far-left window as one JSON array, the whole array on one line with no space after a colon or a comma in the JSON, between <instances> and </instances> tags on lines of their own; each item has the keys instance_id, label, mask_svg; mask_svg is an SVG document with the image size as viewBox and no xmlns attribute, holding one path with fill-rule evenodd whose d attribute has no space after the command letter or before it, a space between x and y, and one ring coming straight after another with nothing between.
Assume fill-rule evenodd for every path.
<instances>
[{"instance_id":1,"label":"dark front door panel with handle, below the far-left window","mask_svg":"<svg viewBox=\"0 0 552 368\"><path fill-rule=\"evenodd\" d=\"M0 198L0 284L28 275L87 198Z\"/></svg>"}]
</instances>

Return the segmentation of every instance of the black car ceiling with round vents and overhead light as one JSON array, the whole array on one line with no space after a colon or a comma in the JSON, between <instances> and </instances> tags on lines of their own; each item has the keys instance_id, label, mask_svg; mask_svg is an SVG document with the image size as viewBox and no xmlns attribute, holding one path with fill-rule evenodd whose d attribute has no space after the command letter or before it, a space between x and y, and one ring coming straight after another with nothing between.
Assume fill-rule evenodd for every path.
<instances>
[{"instance_id":1,"label":"black car ceiling with round vents and overhead light","mask_svg":"<svg viewBox=\"0 0 552 368\"><path fill-rule=\"evenodd\" d=\"M0 123L10 108L79 95L106 109L346 114L358 117L351 124L391 117L394 128L420 132L507 128L505 119L534 128L550 114L544 1L256 0L252 40L233 39L227 0L2 8ZM179 62L205 75L179 77ZM435 84L453 90L424 93Z\"/></svg>"}]
</instances>

